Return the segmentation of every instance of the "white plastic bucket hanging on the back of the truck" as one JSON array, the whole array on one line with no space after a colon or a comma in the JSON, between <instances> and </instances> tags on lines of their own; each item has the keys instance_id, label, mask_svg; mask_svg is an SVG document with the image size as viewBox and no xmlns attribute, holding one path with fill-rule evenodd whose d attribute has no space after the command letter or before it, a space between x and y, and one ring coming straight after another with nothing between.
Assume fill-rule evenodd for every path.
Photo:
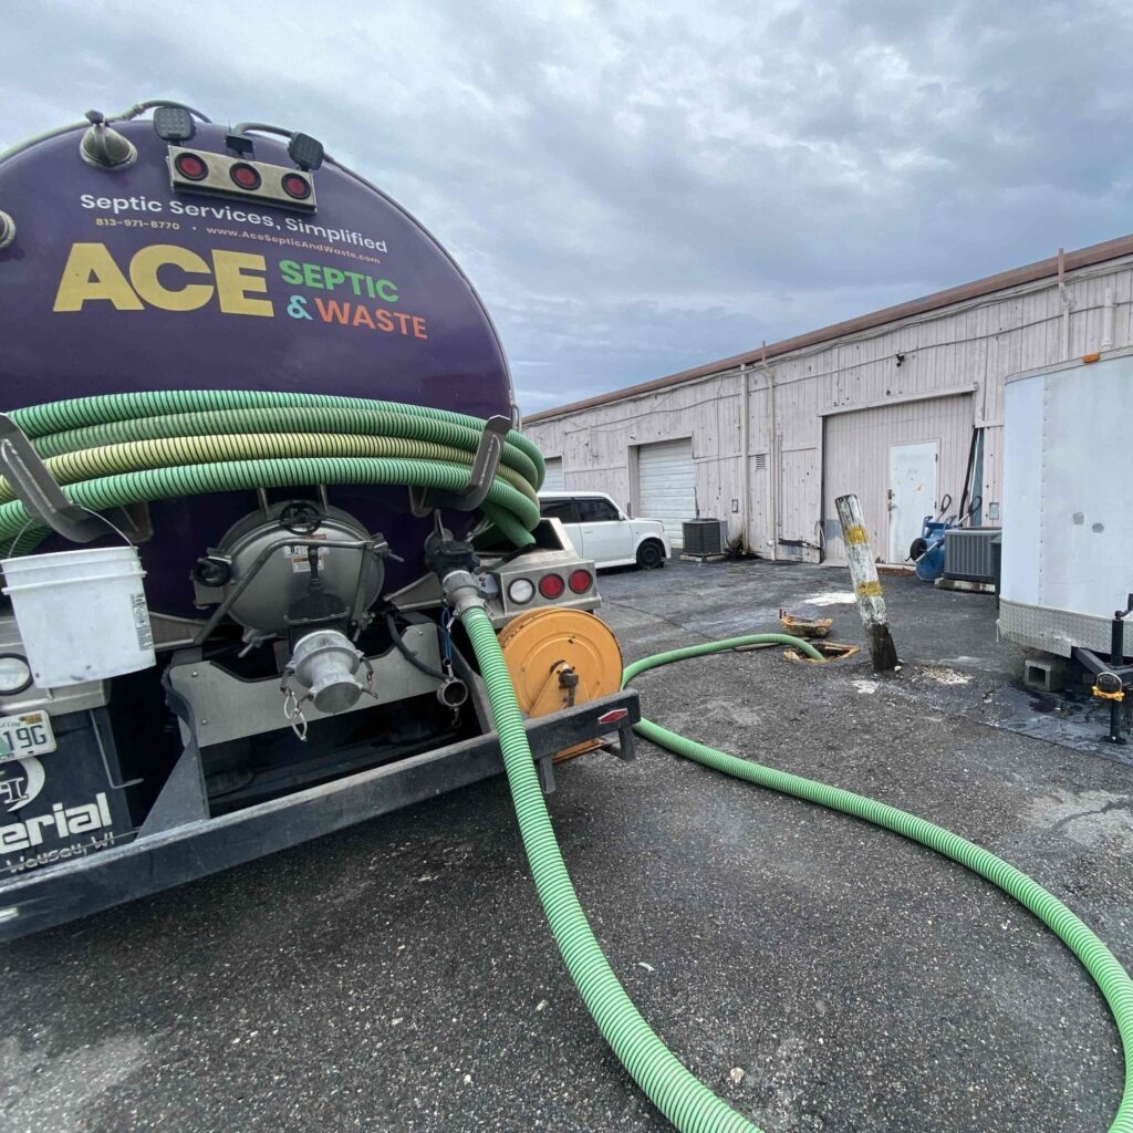
<instances>
[{"instance_id":1,"label":"white plastic bucket hanging on the back of the truck","mask_svg":"<svg viewBox=\"0 0 1133 1133\"><path fill-rule=\"evenodd\" d=\"M134 547L90 547L0 562L5 594L41 689L156 664Z\"/></svg>"}]
</instances>

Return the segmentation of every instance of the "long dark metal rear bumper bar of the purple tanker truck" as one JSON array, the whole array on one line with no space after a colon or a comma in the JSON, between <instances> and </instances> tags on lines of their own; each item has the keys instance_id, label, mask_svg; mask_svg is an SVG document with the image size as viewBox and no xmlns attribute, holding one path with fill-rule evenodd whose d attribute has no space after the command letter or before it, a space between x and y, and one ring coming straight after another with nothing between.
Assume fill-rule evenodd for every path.
<instances>
[{"instance_id":1,"label":"long dark metal rear bumper bar of the purple tanker truck","mask_svg":"<svg viewBox=\"0 0 1133 1133\"><path fill-rule=\"evenodd\" d=\"M625 715L616 718L622 710ZM616 732L622 758L632 758L631 727L640 718L637 692L623 690L528 721L527 735L544 790L553 790L551 761L563 748ZM219 818L191 818L198 782L198 770L193 766L196 759L195 748L187 748L170 777L170 790L184 796L165 800L162 812L170 816L168 824L155 824L155 813L151 813L133 842L0 883L0 940L16 939L253 861L503 770L493 732ZM163 799L164 792L155 812L162 810ZM155 825L161 828L155 829Z\"/></svg>"}]
</instances>

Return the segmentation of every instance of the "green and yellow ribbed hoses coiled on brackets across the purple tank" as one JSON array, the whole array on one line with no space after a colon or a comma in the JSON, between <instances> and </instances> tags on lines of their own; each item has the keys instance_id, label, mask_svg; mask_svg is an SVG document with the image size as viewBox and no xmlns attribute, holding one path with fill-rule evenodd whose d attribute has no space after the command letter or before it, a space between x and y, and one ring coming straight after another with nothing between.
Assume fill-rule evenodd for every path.
<instances>
[{"instance_id":1,"label":"green and yellow ribbed hoses coiled on brackets across the purple tank","mask_svg":"<svg viewBox=\"0 0 1133 1133\"><path fill-rule=\"evenodd\" d=\"M484 421L466 414L331 394L179 390L77 398L11 415L73 502L91 511L258 487L374 484L458 492ZM533 542L538 449L509 432L484 513ZM0 478L0 544L46 534Z\"/></svg>"}]
</instances>

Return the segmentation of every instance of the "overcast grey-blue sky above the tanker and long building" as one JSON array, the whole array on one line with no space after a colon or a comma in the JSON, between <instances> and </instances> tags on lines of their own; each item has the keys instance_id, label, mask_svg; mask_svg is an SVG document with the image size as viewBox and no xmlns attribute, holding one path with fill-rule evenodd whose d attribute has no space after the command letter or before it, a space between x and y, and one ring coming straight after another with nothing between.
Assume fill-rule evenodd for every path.
<instances>
[{"instance_id":1,"label":"overcast grey-blue sky above the tanker and long building","mask_svg":"<svg viewBox=\"0 0 1133 1133\"><path fill-rule=\"evenodd\" d=\"M8 0L0 144L164 95L453 252L526 412L1133 230L1130 0Z\"/></svg>"}]
</instances>

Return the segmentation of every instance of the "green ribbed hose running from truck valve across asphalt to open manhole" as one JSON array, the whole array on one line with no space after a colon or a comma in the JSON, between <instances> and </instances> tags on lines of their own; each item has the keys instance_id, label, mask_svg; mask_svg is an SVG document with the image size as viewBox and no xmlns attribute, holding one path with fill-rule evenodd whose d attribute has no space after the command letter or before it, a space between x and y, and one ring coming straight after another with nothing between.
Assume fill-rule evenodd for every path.
<instances>
[{"instance_id":1,"label":"green ribbed hose running from truck valve across asphalt to open manhole","mask_svg":"<svg viewBox=\"0 0 1133 1133\"><path fill-rule=\"evenodd\" d=\"M759 1133L758 1126L697 1080L654 1033L603 955L555 841L495 631L483 610L470 608L461 616L487 684L531 877L566 969L598 1030L649 1100L680 1133ZM755 633L647 657L627 667L622 683L658 665L749 645L787 645L813 661L824 659L808 641L785 633ZM915 815L851 791L739 759L647 719L634 725L634 731L714 770L864 819L919 842L979 874L1034 913L1082 962L1109 1005L1125 1055L1125 1090L1109 1133L1133 1133L1133 983L1105 944L1054 894L1002 858Z\"/></svg>"}]
</instances>

